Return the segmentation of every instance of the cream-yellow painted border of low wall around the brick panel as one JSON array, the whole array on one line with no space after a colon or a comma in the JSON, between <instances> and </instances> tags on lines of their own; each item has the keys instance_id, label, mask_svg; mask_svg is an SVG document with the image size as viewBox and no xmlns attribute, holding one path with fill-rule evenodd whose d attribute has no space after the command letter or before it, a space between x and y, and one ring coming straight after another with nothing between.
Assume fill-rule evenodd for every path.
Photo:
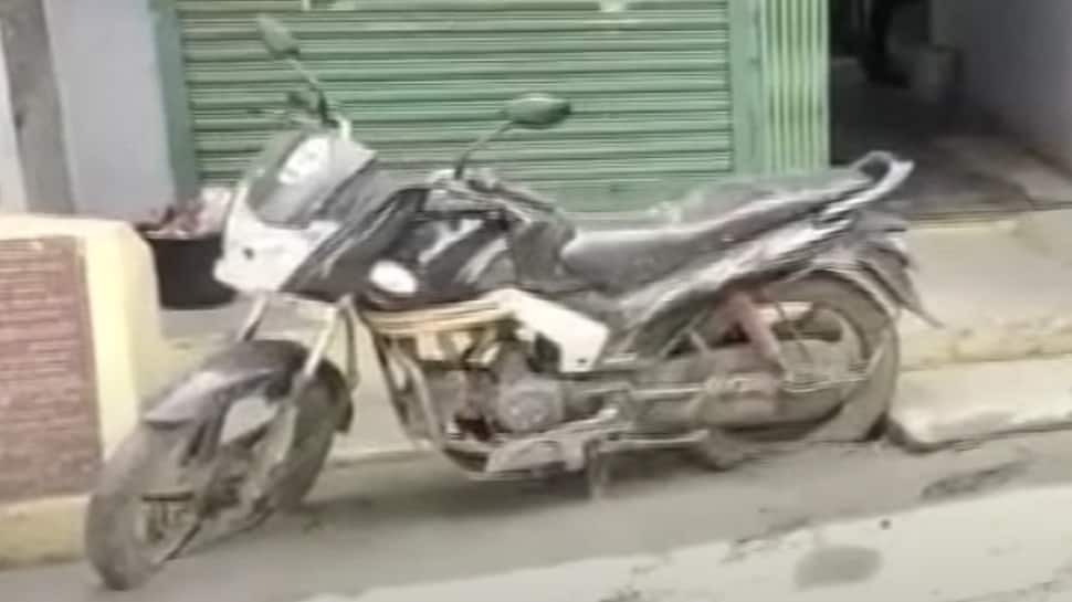
<instances>
[{"instance_id":1,"label":"cream-yellow painted border of low wall around the brick panel","mask_svg":"<svg viewBox=\"0 0 1072 602\"><path fill-rule=\"evenodd\" d=\"M141 397L169 376L151 254L123 222L0 216L0 239L51 236L76 240L85 266L101 448L107 455L134 425ZM84 508L84 492L0 505L0 568L81 556Z\"/></svg>"}]
</instances>

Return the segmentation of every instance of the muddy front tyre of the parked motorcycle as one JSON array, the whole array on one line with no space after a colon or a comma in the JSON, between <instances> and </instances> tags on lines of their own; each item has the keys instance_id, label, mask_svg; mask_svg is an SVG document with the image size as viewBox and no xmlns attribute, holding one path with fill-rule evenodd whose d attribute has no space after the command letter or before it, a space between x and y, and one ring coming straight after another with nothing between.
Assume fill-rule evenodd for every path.
<instances>
[{"instance_id":1,"label":"muddy front tyre of the parked motorcycle","mask_svg":"<svg viewBox=\"0 0 1072 602\"><path fill-rule=\"evenodd\" d=\"M270 503L255 516L244 517L243 525L260 524L274 510L294 508L313 488L335 435L334 392L333 383L322 376L297 401L294 443L274 480ZM177 468L176 456L187 456L198 445L199 433L207 432L206 426L212 420L221 419L204 416L198 423L175 430L139 424L108 458L90 498L85 524L86 557L107 588L130 590L143 584L190 542L201 529L201 521L211 522L211 517L190 517L191 522L166 527L150 524L153 518L143 516L143 511L158 513L166 504L161 499L179 497L154 490L159 486L158 475ZM191 492L181 494L181 497L192 496ZM183 501L174 504L180 506L181 513ZM193 510L187 507L186 511ZM209 530L214 529L204 529Z\"/></svg>"}]
</instances>

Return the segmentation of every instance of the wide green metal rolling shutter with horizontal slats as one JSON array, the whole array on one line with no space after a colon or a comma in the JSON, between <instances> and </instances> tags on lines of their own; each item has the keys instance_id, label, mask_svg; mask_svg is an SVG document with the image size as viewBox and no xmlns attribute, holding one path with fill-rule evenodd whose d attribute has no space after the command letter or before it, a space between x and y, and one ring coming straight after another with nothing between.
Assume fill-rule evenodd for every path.
<instances>
[{"instance_id":1,"label":"wide green metal rolling shutter with horizontal slats","mask_svg":"<svg viewBox=\"0 0 1072 602\"><path fill-rule=\"evenodd\" d=\"M259 112L298 85L261 47L261 12L293 29L355 135L398 170L449 165L528 92L570 98L575 116L475 159L568 205L647 202L737 170L731 0L311 3L176 0L202 181L233 179L282 127Z\"/></svg>"}]
</instances>

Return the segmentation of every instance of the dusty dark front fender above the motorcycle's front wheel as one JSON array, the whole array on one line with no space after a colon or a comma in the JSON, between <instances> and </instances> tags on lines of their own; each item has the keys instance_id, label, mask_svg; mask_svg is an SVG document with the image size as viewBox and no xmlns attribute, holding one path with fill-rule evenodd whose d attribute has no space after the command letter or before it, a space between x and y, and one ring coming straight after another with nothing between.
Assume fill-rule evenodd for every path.
<instances>
[{"instance_id":1,"label":"dusty dark front fender above the motorcycle's front wheel","mask_svg":"<svg viewBox=\"0 0 1072 602\"><path fill-rule=\"evenodd\" d=\"M222 349L177 379L149 402L144 423L171 429L222 413L244 393L265 388L270 399L284 395L302 369L308 351L294 341L253 340ZM322 371L345 400L346 381L335 366L324 362ZM346 403L349 409L350 404ZM340 429L349 426L350 411L340 412Z\"/></svg>"}]
</instances>

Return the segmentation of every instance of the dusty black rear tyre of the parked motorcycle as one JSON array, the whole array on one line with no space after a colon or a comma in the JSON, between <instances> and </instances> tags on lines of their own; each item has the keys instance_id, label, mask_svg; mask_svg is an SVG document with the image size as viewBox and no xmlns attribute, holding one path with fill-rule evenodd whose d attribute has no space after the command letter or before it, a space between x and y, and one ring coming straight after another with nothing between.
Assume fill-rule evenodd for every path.
<instances>
[{"instance_id":1,"label":"dusty black rear tyre of the parked motorcycle","mask_svg":"<svg viewBox=\"0 0 1072 602\"><path fill-rule=\"evenodd\" d=\"M864 358L881 353L868 378L853 386L832 414L791 427L713 430L694 450L713 469L731 468L749 457L789 445L862 442L881 429L896 392L901 369L900 339L893 317L868 293L849 281L816 275L773 287L770 303L822 306L837 314L858 338ZM781 337L779 337L781 339ZM791 340L784 345L792 345ZM791 400L790 400L791 401Z\"/></svg>"}]
</instances>

